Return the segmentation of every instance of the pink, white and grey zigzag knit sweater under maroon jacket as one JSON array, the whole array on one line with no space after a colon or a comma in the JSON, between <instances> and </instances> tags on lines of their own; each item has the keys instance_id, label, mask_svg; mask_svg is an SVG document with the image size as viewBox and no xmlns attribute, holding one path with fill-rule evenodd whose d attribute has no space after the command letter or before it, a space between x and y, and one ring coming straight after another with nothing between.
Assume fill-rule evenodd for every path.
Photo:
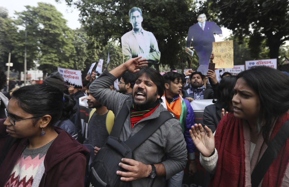
<instances>
[{"instance_id":1,"label":"pink, white and grey zigzag knit sweater under maroon jacket","mask_svg":"<svg viewBox=\"0 0 289 187\"><path fill-rule=\"evenodd\" d=\"M41 179L35 179L34 177L36 173L44 173L44 158L53 141L37 149L28 149L26 146L18 158L5 187L39 186Z\"/></svg>"}]
</instances>

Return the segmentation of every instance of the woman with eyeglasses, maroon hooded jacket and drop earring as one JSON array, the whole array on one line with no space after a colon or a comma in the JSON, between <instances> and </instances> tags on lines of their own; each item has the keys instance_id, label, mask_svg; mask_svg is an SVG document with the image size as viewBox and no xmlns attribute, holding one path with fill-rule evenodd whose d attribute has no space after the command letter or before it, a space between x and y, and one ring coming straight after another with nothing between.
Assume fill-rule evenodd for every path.
<instances>
[{"instance_id":1,"label":"woman with eyeglasses, maroon hooded jacket and drop earring","mask_svg":"<svg viewBox=\"0 0 289 187\"><path fill-rule=\"evenodd\" d=\"M69 118L74 104L45 84L12 93L0 120L0 186L84 186L89 151L53 126Z\"/></svg>"}]
</instances>

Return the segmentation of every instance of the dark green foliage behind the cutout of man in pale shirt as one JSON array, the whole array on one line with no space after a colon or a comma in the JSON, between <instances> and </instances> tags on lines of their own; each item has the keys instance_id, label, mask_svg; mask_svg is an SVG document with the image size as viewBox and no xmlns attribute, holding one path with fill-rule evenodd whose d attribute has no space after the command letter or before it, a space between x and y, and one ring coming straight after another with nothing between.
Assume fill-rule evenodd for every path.
<instances>
[{"instance_id":1,"label":"dark green foliage behind the cutout of man in pale shirt","mask_svg":"<svg viewBox=\"0 0 289 187\"><path fill-rule=\"evenodd\" d=\"M185 56L185 38L188 28L196 23L194 0L65 0L67 5L76 5L81 22L87 34L105 46L108 41L120 41L126 32L132 30L128 12L136 6L142 10L142 27L154 34L161 52L161 64L171 68L180 62L190 62ZM120 59L121 60L121 59Z\"/></svg>"}]
</instances>

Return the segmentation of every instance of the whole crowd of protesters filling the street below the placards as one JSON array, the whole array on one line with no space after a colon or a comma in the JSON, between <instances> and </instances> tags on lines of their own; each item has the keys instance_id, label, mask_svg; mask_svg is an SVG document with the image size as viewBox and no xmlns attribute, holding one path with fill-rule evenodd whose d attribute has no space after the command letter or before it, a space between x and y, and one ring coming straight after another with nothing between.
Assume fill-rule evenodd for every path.
<instances>
[{"instance_id":1,"label":"whole crowd of protesters filling the street below the placards","mask_svg":"<svg viewBox=\"0 0 289 187\"><path fill-rule=\"evenodd\" d=\"M97 78L92 72L83 89L64 86L58 72L42 84L9 85L0 93L0 186L85 186L94 156L103 155L107 148L101 148L115 135L116 119L124 120L117 137L124 142L166 110L172 117L109 174L119 176L116 186L181 187L186 165L189 175L197 172L195 152L212 174L210 186L289 186L288 135L283 144L272 141L289 119L288 75L262 66L237 76L224 73L218 82L212 70L162 76L146 66L137 57ZM204 109L203 122L195 124L190 102L205 99L213 101ZM269 169L260 169L268 147L274 159Z\"/></svg>"}]
</instances>

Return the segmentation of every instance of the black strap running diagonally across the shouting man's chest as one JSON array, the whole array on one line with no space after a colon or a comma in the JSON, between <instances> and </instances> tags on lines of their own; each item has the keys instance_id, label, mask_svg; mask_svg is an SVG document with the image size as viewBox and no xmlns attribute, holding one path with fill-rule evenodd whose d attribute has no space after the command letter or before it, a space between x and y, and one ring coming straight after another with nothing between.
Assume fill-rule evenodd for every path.
<instances>
[{"instance_id":1,"label":"black strap running diagonally across the shouting man's chest","mask_svg":"<svg viewBox=\"0 0 289 187\"><path fill-rule=\"evenodd\" d=\"M133 151L141 143L147 140L164 122L169 119L175 118L175 115L171 111L163 111L160 116L156 119L152 119L146 124L140 131L135 135L127 139L124 143Z\"/></svg>"}]
</instances>

